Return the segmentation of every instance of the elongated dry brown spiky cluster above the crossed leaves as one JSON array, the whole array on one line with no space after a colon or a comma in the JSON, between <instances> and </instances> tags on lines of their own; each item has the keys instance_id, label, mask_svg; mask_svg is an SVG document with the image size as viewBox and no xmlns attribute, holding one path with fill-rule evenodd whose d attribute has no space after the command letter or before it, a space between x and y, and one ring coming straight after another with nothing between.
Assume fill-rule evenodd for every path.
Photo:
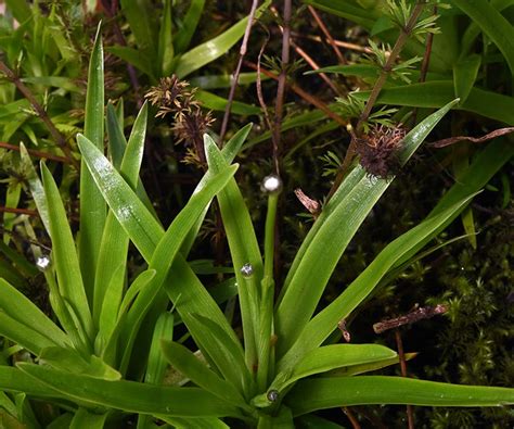
<instances>
[{"instance_id":1,"label":"elongated dry brown spiky cluster above the crossed leaves","mask_svg":"<svg viewBox=\"0 0 514 429\"><path fill-rule=\"evenodd\" d=\"M198 101L194 99L196 88L190 89L189 83L177 76L164 77L159 85L152 87L145 98L158 106L157 117L172 114L175 123L171 128L177 143L187 147L184 162L194 165L205 164L203 136L213 124L210 112L202 112Z\"/></svg>"}]
</instances>

